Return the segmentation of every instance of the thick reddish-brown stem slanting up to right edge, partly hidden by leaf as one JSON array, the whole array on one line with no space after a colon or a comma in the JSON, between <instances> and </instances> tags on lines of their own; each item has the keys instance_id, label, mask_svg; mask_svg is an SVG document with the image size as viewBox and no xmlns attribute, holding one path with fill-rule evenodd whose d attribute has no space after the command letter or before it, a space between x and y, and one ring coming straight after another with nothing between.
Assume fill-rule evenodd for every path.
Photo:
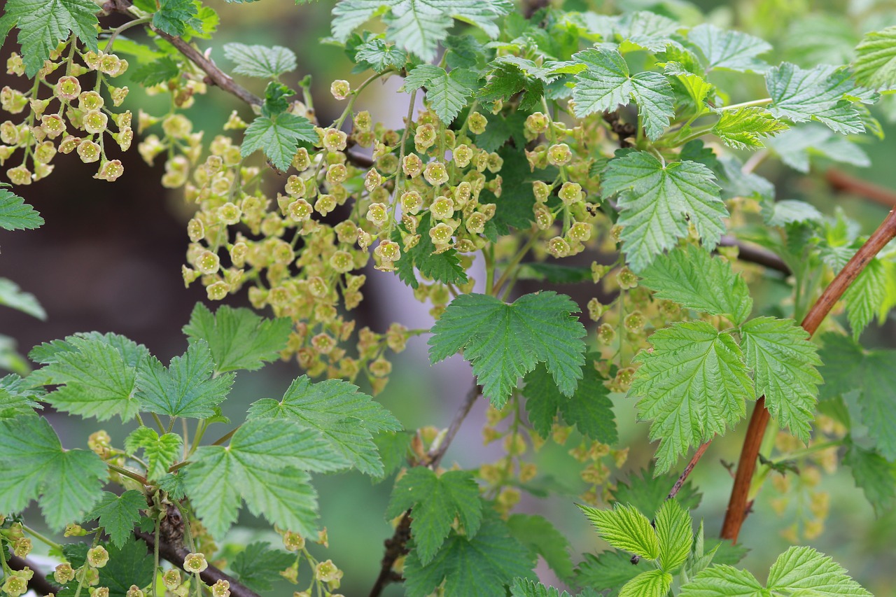
<instances>
[{"instance_id":1,"label":"thick reddish-brown stem slanting up to right edge, partly hidden by leaf","mask_svg":"<svg viewBox=\"0 0 896 597\"><path fill-rule=\"evenodd\" d=\"M874 234L858 249L856 255L852 256L849 263L840 270L837 277L824 289L822 296L809 309L802 325L810 336L818 329L824 317L831 312L834 303L840 300L840 297L849 288L849 284L856 280L858 274L865 269L866 264L893 238L896 238L896 211L887 215L878 229L874 230ZM725 513L725 522L722 523L722 539L737 542L737 535L744 524L750 485L756 471L756 459L759 456L759 447L762 445L762 437L765 435L769 418L769 411L765 408L763 396L756 401L753 416L746 429L744 446L740 452L740 459L737 461L734 487L731 488L731 497L728 500L728 511Z\"/></svg>"}]
</instances>

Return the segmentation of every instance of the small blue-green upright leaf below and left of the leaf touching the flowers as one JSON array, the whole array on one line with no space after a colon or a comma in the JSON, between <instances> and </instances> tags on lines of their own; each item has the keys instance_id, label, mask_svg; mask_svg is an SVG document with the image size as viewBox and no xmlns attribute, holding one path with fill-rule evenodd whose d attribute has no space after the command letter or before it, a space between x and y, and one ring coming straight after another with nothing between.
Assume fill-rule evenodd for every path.
<instances>
[{"instance_id":1,"label":"small blue-green upright leaf below and left of the leaf touching the flowers","mask_svg":"<svg viewBox=\"0 0 896 597\"><path fill-rule=\"evenodd\" d=\"M213 377L214 363L208 342L197 340L180 357L164 367L149 357L137 370L142 410L169 417L205 419L227 398L234 374Z\"/></svg>"}]
</instances>

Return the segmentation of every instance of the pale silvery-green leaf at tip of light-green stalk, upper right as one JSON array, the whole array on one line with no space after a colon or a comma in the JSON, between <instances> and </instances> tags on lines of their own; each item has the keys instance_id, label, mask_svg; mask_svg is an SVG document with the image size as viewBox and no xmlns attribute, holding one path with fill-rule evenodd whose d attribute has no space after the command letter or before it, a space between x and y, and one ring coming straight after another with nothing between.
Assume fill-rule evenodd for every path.
<instances>
[{"instance_id":1,"label":"pale silvery-green leaf at tip of light-green stalk, upper right","mask_svg":"<svg viewBox=\"0 0 896 597\"><path fill-rule=\"evenodd\" d=\"M785 62L765 75L765 84L773 117L792 122L815 120L840 134L865 131L857 109L844 99L852 91L849 73L844 69L819 65L804 70Z\"/></svg>"}]
</instances>

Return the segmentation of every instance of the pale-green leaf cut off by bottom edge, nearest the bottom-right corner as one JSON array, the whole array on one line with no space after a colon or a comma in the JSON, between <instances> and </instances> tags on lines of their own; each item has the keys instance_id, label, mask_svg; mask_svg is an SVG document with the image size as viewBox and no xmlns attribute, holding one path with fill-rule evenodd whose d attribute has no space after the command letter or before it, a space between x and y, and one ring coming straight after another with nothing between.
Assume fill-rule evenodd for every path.
<instances>
[{"instance_id":1,"label":"pale-green leaf cut off by bottom edge, nearest the bottom-right corner","mask_svg":"<svg viewBox=\"0 0 896 597\"><path fill-rule=\"evenodd\" d=\"M772 591L818 597L872 597L840 564L810 547L792 547L782 553L771 565L767 585Z\"/></svg>"}]
</instances>

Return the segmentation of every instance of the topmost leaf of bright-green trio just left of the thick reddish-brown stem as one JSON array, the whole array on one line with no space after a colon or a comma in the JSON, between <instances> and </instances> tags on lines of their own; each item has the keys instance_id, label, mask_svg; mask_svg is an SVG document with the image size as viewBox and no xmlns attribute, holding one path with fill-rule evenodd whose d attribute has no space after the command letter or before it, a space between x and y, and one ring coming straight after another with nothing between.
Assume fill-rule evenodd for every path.
<instances>
[{"instance_id":1,"label":"topmost leaf of bright-green trio just left of the thick reddish-brown stem","mask_svg":"<svg viewBox=\"0 0 896 597\"><path fill-rule=\"evenodd\" d=\"M693 245L659 255L641 274L642 285L657 299L742 324L753 310L744 278L731 264Z\"/></svg>"}]
</instances>

